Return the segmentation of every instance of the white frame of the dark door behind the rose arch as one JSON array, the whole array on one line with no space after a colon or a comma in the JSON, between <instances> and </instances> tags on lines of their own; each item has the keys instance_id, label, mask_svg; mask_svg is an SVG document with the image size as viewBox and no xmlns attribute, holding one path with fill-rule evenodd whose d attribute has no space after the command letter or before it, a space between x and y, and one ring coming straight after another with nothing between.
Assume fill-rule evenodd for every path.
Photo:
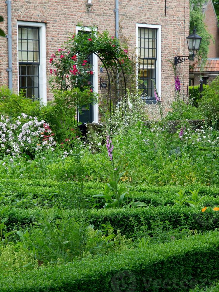
<instances>
[{"instance_id":1,"label":"white frame of the dark door behind the rose arch","mask_svg":"<svg viewBox=\"0 0 219 292\"><path fill-rule=\"evenodd\" d=\"M83 27L86 31L91 31L91 27ZM97 28L95 28L97 30ZM79 31L81 31L81 27L76 26L76 35ZM93 87L94 91L98 93L98 57L97 55L93 54ZM98 107L98 100L97 104L94 105L94 123L99 122L99 107Z\"/></svg>"}]
</instances>

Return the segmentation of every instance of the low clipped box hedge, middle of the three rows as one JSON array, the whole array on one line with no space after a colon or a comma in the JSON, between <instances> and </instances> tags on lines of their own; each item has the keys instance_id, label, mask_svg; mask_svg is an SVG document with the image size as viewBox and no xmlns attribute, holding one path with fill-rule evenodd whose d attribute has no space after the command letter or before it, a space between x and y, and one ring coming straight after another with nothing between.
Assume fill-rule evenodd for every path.
<instances>
[{"instance_id":1,"label":"low clipped box hedge, middle of the three rows","mask_svg":"<svg viewBox=\"0 0 219 292\"><path fill-rule=\"evenodd\" d=\"M187 206L148 206L143 208L122 208L122 209L91 209L89 213L90 224L94 224L95 229L100 229L101 224L110 223L114 230L119 229L122 235L132 237L134 232L133 222L141 226L142 219L150 230L155 220L168 221L174 228L186 226L198 231L215 230L219 225L219 212L207 209L202 213L201 207L192 208ZM15 225L28 226L40 216L40 209L16 209L11 208L6 215L8 230L16 229ZM58 218L58 210L49 209L49 215ZM73 216L71 210L66 210L69 216ZM130 219L132 218L132 220ZM183 218L183 219L182 219Z\"/></svg>"}]
</instances>

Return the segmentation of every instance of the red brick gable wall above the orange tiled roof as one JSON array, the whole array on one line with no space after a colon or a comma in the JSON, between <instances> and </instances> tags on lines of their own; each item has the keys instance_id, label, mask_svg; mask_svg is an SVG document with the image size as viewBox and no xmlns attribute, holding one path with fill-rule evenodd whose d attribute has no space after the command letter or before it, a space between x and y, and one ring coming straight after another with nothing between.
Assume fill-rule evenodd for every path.
<instances>
[{"instance_id":1,"label":"red brick gable wall above the orange tiled roof","mask_svg":"<svg viewBox=\"0 0 219 292\"><path fill-rule=\"evenodd\" d=\"M205 11L205 24L208 31L212 34L215 43L211 41L209 45L208 58L219 58L219 28L218 20L215 16L214 8L212 1L208 2L206 11Z\"/></svg>"}]
</instances>

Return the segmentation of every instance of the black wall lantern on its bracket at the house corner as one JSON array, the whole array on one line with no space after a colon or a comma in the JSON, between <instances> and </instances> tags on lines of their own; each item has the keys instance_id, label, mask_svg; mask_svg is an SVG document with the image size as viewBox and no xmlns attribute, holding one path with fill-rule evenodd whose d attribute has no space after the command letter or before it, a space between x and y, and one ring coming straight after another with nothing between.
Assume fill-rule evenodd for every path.
<instances>
[{"instance_id":1,"label":"black wall lantern on its bracket at the house corner","mask_svg":"<svg viewBox=\"0 0 219 292\"><path fill-rule=\"evenodd\" d=\"M196 34L195 28L193 29L193 33L189 35L187 38L187 44L190 51L190 56L177 56L174 57L174 65L184 62L185 60L194 60L195 52L197 52L200 48L201 37Z\"/></svg>"}]
</instances>

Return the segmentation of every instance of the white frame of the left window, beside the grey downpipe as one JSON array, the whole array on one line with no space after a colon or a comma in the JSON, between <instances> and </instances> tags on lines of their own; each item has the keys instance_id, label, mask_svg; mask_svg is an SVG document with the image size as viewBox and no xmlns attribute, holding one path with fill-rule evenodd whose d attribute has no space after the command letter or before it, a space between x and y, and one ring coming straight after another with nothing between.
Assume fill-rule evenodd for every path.
<instances>
[{"instance_id":1,"label":"white frame of the left window, beside the grey downpipe","mask_svg":"<svg viewBox=\"0 0 219 292\"><path fill-rule=\"evenodd\" d=\"M30 26L39 28L40 43L40 65L39 65L39 97L40 103L46 104L46 24L41 22L17 21L17 52L18 52L18 26ZM18 58L19 63L19 58ZM19 66L18 66L19 72ZM18 92L19 92L19 73L18 73Z\"/></svg>"}]
</instances>

